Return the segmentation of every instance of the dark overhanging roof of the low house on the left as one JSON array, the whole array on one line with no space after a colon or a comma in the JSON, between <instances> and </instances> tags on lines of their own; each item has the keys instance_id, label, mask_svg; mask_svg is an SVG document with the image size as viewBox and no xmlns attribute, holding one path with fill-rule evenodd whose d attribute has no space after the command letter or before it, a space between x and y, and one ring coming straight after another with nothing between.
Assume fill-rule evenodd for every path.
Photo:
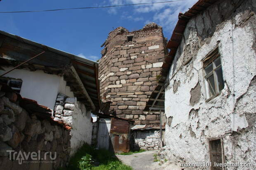
<instances>
[{"instance_id":1,"label":"dark overhanging roof of the low house on the left","mask_svg":"<svg viewBox=\"0 0 256 170\"><path fill-rule=\"evenodd\" d=\"M42 51L45 51L45 53L34 58L32 61L29 61L28 64L43 65L45 67L60 68L63 70L65 70L66 67L73 65L83 83L84 88L88 92L88 96L90 96L92 103L96 108L100 107L98 63L27 40L17 35L0 31L0 54L9 56L9 59L17 62L23 62ZM1 62L1 65L2 64L3 63ZM66 81L69 86L73 84L72 80ZM78 99L79 97L82 97L80 92L76 93L76 88L71 90L73 90Z\"/></svg>"}]
</instances>

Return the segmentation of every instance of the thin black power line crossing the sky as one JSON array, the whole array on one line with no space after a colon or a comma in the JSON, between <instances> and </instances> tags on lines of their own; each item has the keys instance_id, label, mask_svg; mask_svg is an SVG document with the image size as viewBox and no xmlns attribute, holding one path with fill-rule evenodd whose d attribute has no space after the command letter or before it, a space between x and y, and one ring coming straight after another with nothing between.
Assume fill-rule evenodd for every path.
<instances>
[{"instance_id":1,"label":"thin black power line crossing the sky","mask_svg":"<svg viewBox=\"0 0 256 170\"><path fill-rule=\"evenodd\" d=\"M184 0L172 0L172 1L165 1L165 2L150 2L150 3L138 3L138 4L125 4L125 5L111 5L111 6L103 6L103 7L62 8L62 9L48 9L48 10L38 10L38 11L8 11L8 12L0 12L0 13L48 12L48 11L70 10L70 9L110 8L110 7L123 7L123 6L133 6L133 5L160 4L160 3L169 3L169 2L177 2L177 1L184 1Z\"/></svg>"}]
</instances>

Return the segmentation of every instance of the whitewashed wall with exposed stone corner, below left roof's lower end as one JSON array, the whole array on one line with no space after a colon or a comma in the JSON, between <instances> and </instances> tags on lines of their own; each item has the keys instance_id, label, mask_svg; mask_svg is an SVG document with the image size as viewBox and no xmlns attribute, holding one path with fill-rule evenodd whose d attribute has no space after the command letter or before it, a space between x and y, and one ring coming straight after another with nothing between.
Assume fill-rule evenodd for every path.
<instances>
[{"instance_id":1,"label":"whitewashed wall with exposed stone corner, below left roof's lower end","mask_svg":"<svg viewBox=\"0 0 256 170\"><path fill-rule=\"evenodd\" d=\"M69 98L59 93L55 103L54 120L64 121L71 128L71 155L84 143L91 144L92 122L91 112L76 98Z\"/></svg>"}]
</instances>

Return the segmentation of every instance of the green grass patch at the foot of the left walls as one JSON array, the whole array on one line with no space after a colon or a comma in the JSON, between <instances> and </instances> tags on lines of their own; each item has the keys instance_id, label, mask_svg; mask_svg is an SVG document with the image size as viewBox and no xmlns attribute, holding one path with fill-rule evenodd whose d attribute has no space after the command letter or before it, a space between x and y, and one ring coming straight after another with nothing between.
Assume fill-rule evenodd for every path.
<instances>
[{"instance_id":1,"label":"green grass patch at the foot of the left walls","mask_svg":"<svg viewBox=\"0 0 256 170\"><path fill-rule=\"evenodd\" d=\"M71 157L68 168L59 170L80 170L78 168L79 161L81 161L81 158L86 154L90 154L92 160L99 163L99 166L93 166L91 170L132 170L130 166L121 163L114 153L105 149L96 150L88 144L84 144L78 149L76 154Z\"/></svg>"}]
</instances>

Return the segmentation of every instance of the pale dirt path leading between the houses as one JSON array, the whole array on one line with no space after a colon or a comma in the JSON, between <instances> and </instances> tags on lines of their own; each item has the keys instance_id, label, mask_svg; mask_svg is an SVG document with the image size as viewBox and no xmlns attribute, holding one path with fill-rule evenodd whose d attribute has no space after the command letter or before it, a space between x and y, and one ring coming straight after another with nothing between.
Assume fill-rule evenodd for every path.
<instances>
[{"instance_id":1,"label":"pale dirt path leading between the houses","mask_svg":"<svg viewBox=\"0 0 256 170\"><path fill-rule=\"evenodd\" d=\"M154 162L154 154L158 151L145 151L132 155L116 155L120 161L130 165L133 170L181 170L177 165L158 161ZM159 165L160 164L160 165Z\"/></svg>"}]
</instances>

